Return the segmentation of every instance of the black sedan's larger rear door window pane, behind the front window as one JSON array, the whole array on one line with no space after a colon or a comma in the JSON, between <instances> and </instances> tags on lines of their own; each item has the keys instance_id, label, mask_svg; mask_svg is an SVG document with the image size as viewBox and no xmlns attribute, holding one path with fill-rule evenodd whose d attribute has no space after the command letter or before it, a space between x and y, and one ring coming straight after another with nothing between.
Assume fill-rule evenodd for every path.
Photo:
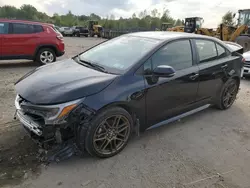
<instances>
[{"instance_id":1,"label":"black sedan's larger rear door window pane, behind the front window","mask_svg":"<svg viewBox=\"0 0 250 188\"><path fill-rule=\"evenodd\" d=\"M215 43L209 40L195 40L200 63L206 63L217 59Z\"/></svg>"}]
</instances>

